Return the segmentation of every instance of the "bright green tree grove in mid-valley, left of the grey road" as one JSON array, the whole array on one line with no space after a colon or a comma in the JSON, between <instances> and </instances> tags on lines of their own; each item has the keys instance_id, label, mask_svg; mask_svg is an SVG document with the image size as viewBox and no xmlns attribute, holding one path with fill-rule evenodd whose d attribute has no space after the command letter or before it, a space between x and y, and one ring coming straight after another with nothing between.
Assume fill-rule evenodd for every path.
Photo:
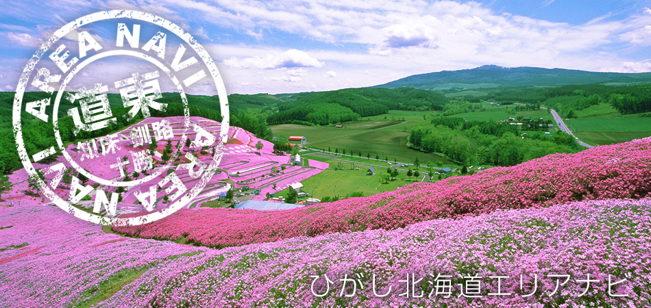
<instances>
[{"instance_id":1,"label":"bright green tree grove in mid-valley, left of the grey road","mask_svg":"<svg viewBox=\"0 0 651 308\"><path fill-rule=\"evenodd\" d=\"M429 124L413 127L408 142L414 149L441 153L463 166L513 166L551 153L578 151L576 140L561 131L553 138L542 134L522 138L519 129L508 123L456 117L435 117Z\"/></svg>"}]
</instances>

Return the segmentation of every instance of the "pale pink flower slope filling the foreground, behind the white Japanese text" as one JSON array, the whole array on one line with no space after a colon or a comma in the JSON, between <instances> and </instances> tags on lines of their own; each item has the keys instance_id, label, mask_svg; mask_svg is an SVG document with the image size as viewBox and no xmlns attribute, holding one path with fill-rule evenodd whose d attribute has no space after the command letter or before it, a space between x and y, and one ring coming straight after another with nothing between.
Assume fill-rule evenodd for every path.
<instances>
[{"instance_id":1,"label":"pale pink flower slope filling the foreground, behind the white Japanese text","mask_svg":"<svg viewBox=\"0 0 651 308\"><path fill-rule=\"evenodd\" d=\"M581 201L217 250L25 201L0 207L0 307L650 307L650 217Z\"/></svg>"}]
</instances>

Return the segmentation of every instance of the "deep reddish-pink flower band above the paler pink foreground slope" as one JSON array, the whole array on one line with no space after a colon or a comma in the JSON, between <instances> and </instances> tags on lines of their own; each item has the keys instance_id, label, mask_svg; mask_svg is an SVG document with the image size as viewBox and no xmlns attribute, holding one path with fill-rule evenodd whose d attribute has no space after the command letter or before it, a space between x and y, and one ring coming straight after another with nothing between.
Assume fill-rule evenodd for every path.
<instances>
[{"instance_id":1,"label":"deep reddish-pink flower band above the paler pink foreground slope","mask_svg":"<svg viewBox=\"0 0 651 308\"><path fill-rule=\"evenodd\" d=\"M114 226L143 238L181 239L224 247L298 236L396 229L434 218L496 209L547 207L568 201L643 198L651 192L651 138L548 155L395 192L287 211L181 210L151 224Z\"/></svg>"}]
</instances>

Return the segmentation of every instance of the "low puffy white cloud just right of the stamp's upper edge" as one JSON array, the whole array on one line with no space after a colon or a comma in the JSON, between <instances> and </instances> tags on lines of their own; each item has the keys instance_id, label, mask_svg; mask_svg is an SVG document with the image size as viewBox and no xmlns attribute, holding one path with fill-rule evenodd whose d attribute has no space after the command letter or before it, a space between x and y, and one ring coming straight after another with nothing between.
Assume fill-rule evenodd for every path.
<instances>
[{"instance_id":1,"label":"low puffy white cloud just right of the stamp's upper edge","mask_svg":"<svg viewBox=\"0 0 651 308\"><path fill-rule=\"evenodd\" d=\"M315 57L297 49L290 49L283 53L268 54L265 57L246 57L244 59L230 57L223 60L223 64L232 68L252 69L321 67L325 65L325 63L317 60Z\"/></svg>"}]
</instances>

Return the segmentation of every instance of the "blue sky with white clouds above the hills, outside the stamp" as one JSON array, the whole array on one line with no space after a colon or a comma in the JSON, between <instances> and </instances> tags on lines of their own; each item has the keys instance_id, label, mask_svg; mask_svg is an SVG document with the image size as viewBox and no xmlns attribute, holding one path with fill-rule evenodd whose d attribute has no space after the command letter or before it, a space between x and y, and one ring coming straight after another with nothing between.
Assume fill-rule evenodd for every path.
<instances>
[{"instance_id":1,"label":"blue sky with white clouds above the hills, outside the stamp","mask_svg":"<svg viewBox=\"0 0 651 308\"><path fill-rule=\"evenodd\" d=\"M0 89L15 90L53 31L109 9L181 25L208 49L229 93L373 86L484 64L651 71L648 1L3 1Z\"/></svg>"}]
</instances>

